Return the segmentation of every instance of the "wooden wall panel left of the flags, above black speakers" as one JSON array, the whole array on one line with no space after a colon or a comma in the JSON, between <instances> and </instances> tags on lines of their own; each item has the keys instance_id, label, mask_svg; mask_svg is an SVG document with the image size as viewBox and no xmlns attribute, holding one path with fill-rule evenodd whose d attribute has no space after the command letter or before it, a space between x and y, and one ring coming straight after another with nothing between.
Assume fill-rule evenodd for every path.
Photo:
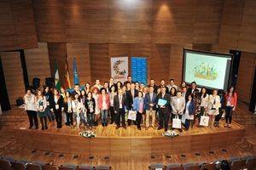
<instances>
[{"instance_id":1,"label":"wooden wall panel left of the flags, above black speakers","mask_svg":"<svg viewBox=\"0 0 256 170\"><path fill-rule=\"evenodd\" d=\"M38 48L24 50L26 58L26 69L30 84L33 77L41 79L44 84L45 78L50 77L49 54L46 42L39 42Z\"/></svg>"}]
</instances>

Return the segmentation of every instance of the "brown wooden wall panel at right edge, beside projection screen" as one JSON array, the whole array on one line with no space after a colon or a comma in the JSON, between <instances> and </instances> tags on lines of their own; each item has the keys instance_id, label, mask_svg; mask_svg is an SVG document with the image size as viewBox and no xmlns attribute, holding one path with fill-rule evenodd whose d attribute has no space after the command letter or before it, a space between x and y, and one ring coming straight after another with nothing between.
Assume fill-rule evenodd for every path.
<instances>
[{"instance_id":1,"label":"brown wooden wall panel at right edge, beside projection screen","mask_svg":"<svg viewBox=\"0 0 256 170\"><path fill-rule=\"evenodd\" d=\"M256 66L256 54L242 52L238 70L238 78L236 83L236 91L238 99L250 103L253 76Z\"/></svg>"}]
</instances>

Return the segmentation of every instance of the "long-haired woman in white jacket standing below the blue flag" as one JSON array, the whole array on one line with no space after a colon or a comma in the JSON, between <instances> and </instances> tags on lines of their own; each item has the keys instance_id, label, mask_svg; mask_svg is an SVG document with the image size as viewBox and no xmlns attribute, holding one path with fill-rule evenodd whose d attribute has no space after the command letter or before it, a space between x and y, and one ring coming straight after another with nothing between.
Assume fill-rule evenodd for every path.
<instances>
[{"instance_id":1,"label":"long-haired woman in white jacket standing below the blue flag","mask_svg":"<svg viewBox=\"0 0 256 170\"><path fill-rule=\"evenodd\" d=\"M76 120L77 127L79 128L80 119L81 119L79 114L83 110L83 103L82 103L81 99L79 98L79 94L74 94L74 100L72 101L72 107L73 107L74 119Z\"/></svg>"}]
</instances>

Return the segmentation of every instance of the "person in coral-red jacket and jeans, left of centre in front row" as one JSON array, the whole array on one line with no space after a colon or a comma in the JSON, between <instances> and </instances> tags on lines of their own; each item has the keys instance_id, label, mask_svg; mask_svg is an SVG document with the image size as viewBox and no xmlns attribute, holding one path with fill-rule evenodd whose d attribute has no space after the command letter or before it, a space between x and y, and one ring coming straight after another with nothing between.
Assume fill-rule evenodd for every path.
<instances>
[{"instance_id":1,"label":"person in coral-red jacket and jeans, left of centre in front row","mask_svg":"<svg viewBox=\"0 0 256 170\"><path fill-rule=\"evenodd\" d=\"M107 94L106 88L101 89L101 94L98 99L99 109L102 112L102 126L107 127L108 125L108 109L109 109L109 95Z\"/></svg>"}]
</instances>

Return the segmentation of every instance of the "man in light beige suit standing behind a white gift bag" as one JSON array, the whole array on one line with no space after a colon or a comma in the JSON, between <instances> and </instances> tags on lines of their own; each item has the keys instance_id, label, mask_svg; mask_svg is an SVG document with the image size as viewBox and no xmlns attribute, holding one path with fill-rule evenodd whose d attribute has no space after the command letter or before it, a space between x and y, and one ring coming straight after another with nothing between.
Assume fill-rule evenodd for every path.
<instances>
[{"instance_id":1,"label":"man in light beige suit standing behind a white gift bag","mask_svg":"<svg viewBox=\"0 0 256 170\"><path fill-rule=\"evenodd\" d=\"M178 117L179 119L183 116L183 111L186 106L185 98L183 98L181 91L177 91L177 96L172 99L172 119ZM179 129L182 131L182 129Z\"/></svg>"}]
</instances>

